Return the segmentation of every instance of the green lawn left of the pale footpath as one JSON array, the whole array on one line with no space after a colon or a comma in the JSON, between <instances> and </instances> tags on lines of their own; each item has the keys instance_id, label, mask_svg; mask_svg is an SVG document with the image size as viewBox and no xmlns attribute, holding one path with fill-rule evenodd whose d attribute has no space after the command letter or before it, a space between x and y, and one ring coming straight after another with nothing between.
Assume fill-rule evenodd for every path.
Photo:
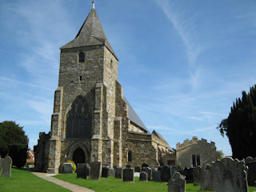
<instances>
[{"instance_id":1,"label":"green lawn left of the pale footpath","mask_svg":"<svg viewBox=\"0 0 256 192\"><path fill-rule=\"evenodd\" d=\"M1 174L0 174L1 175ZM11 178L0 176L0 191L2 192L70 192L52 182L38 178L26 170L11 170Z\"/></svg>"}]
</instances>

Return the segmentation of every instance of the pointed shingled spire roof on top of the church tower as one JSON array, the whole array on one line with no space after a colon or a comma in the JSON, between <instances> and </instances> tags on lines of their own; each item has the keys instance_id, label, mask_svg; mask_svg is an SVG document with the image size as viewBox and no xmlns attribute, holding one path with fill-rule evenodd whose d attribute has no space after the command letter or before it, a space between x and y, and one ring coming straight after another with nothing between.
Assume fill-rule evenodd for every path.
<instances>
[{"instance_id":1,"label":"pointed shingled spire roof on top of the church tower","mask_svg":"<svg viewBox=\"0 0 256 192\"><path fill-rule=\"evenodd\" d=\"M80 46L98 46L104 45L114 57L118 59L114 53L113 48L110 46L110 42L106 38L106 34L103 30L102 24L99 21L96 10L92 8L90 14L88 14L86 21L82 24L81 29L78 31L77 36L71 41L68 42L65 46L62 46L61 49L74 48Z\"/></svg>"}]
</instances>

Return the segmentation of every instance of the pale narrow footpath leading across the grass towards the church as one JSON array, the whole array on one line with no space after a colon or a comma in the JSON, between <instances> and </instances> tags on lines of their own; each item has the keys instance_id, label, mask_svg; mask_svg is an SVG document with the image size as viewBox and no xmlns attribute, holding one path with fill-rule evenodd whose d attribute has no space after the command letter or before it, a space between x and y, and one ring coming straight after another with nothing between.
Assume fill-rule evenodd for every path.
<instances>
[{"instance_id":1,"label":"pale narrow footpath leading across the grass towards the church","mask_svg":"<svg viewBox=\"0 0 256 192\"><path fill-rule=\"evenodd\" d=\"M90 190L87 189L85 187L82 186L77 186L74 185L70 182L64 182L58 178L53 178L51 176L55 175L55 174L47 174L47 173L39 173L39 172L32 172L32 174L38 176L39 178L43 178L49 182L54 182L55 184L57 184L58 186L62 186L68 190L71 190L72 192L95 192L94 190Z\"/></svg>"}]
</instances>

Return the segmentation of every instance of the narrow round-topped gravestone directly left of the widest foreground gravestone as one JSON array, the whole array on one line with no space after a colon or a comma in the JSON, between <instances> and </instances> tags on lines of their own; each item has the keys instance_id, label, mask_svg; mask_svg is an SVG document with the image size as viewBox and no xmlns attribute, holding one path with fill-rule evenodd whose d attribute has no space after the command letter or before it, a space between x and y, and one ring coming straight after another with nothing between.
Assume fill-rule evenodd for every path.
<instances>
[{"instance_id":1,"label":"narrow round-topped gravestone directly left of the widest foreground gravestone","mask_svg":"<svg viewBox=\"0 0 256 192\"><path fill-rule=\"evenodd\" d=\"M201 170L201 187L200 190L213 190L212 166L206 163Z\"/></svg>"}]
</instances>

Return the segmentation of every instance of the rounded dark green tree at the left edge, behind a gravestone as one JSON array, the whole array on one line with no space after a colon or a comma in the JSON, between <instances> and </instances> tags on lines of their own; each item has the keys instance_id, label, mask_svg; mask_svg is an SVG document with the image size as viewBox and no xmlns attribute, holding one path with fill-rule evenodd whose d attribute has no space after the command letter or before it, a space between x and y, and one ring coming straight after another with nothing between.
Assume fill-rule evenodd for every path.
<instances>
[{"instance_id":1,"label":"rounded dark green tree at the left edge, behind a gravestone","mask_svg":"<svg viewBox=\"0 0 256 192\"><path fill-rule=\"evenodd\" d=\"M22 167L26 163L28 138L23 127L15 122L0 122L0 154L5 157L9 154L13 165Z\"/></svg>"}]
</instances>

